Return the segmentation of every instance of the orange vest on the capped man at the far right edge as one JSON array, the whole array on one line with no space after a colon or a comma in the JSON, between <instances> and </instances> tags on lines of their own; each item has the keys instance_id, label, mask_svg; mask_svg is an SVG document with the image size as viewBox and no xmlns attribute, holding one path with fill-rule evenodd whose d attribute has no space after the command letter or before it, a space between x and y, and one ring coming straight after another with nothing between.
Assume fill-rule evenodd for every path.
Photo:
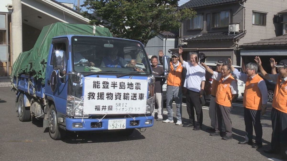
<instances>
[{"instance_id":1,"label":"orange vest on the capped man at the far right edge","mask_svg":"<svg viewBox=\"0 0 287 161\"><path fill-rule=\"evenodd\" d=\"M277 77L277 83L274 90L272 107L281 112L287 113L287 81L281 84L280 76Z\"/></svg>"}]
</instances>

